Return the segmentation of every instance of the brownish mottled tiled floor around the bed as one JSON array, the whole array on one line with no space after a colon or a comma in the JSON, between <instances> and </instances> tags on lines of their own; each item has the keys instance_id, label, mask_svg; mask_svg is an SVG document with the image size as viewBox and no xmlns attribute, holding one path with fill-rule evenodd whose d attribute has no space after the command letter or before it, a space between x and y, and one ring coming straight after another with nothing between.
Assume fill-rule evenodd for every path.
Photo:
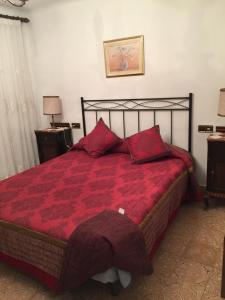
<instances>
[{"instance_id":1,"label":"brownish mottled tiled floor around the bed","mask_svg":"<svg viewBox=\"0 0 225 300\"><path fill-rule=\"evenodd\" d=\"M1 300L219 300L225 206L204 211L182 206L153 261L154 274L139 277L117 297L88 282L73 294L54 297L33 281L0 264Z\"/></svg>"}]
</instances>

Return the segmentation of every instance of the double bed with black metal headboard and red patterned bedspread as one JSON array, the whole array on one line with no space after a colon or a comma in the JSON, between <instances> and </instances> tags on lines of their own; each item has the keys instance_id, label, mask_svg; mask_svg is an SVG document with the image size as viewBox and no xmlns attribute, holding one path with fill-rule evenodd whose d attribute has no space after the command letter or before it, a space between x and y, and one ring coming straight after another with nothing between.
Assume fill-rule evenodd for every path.
<instances>
[{"instance_id":1,"label":"double bed with black metal headboard and red patterned bedspread","mask_svg":"<svg viewBox=\"0 0 225 300\"><path fill-rule=\"evenodd\" d=\"M107 113L110 128L113 111L122 113L124 136L126 112L137 113L140 130L142 110L153 114L154 124L157 112L167 111L171 143L174 114L187 112L187 150L191 152L192 94L159 99L82 98L81 106L84 135L87 111L94 113L96 121L99 113ZM187 196L192 172L188 152L176 147L173 151L173 157L137 165L126 153L109 151L95 159L74 150L1 181L0 260L58 291L71 233L104 209L118 211L121 207L143 232L147 252L153 256Z\"/></svg>"}]
</instances>

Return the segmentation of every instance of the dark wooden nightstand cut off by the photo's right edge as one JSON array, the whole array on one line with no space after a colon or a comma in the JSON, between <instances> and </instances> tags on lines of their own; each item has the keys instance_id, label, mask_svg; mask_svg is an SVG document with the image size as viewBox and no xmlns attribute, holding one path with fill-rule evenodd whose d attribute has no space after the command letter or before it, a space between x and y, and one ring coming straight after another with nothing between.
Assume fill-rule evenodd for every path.
<instances>
[{"instance_id":1,"label":"dark wooden nightstand cut off by the photo's right edge","mask_svg":"<svg viewBox=\"0 0 225 300\"><path fill-rule=\"evenodd\" d=\"M208 137L207 196L225 199L225 135Z\"/></svg>"}]
</instances>

